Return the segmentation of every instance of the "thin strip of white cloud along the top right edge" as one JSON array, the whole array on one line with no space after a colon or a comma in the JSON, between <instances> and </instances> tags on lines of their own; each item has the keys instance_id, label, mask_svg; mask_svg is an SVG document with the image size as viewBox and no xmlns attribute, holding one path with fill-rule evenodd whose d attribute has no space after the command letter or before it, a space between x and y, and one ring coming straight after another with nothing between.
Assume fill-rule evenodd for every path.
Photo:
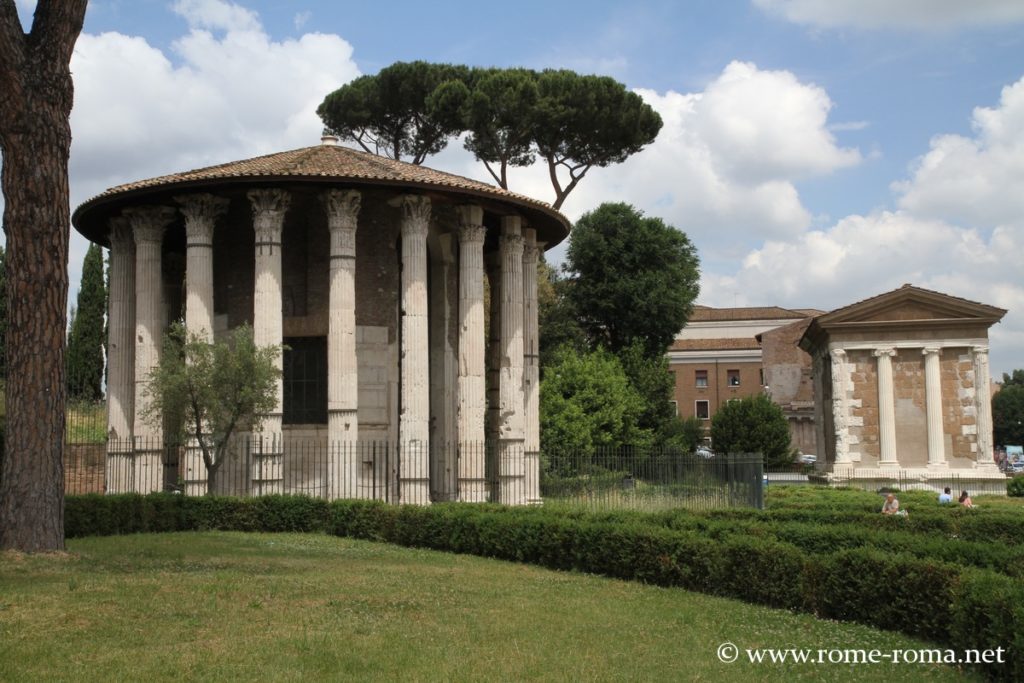
<instances>
[{"instance_id":1,"label":"thin strip of white cloud along the top right edge","mask_svg":"<svg viewBox=\"0 0 1024 683\"><path fill-rule=\"evenodd\" d=\"M1024 20L1020 0L753 0L795 24L822 28L954 29Z\"/></svg>"}]
</instances>

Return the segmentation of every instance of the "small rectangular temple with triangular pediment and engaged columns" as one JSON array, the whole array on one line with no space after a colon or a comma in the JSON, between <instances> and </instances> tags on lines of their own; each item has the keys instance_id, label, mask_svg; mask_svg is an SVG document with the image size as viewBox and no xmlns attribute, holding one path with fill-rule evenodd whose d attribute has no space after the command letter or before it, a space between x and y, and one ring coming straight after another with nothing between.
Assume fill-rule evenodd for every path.
<instances>
[{"instance_id":1,"label":"small rectangular temple with triangular pediment and engaged columns","mask_svg":"<svg viewBox=\"0 0 1024 683\"><path fill-rule=\"evenodd\" d=\"M800 346L812 357L817 447L830 477L903 470L923 481L1001 481L988 329L1005 314L904 285L813 318Z\"/></svg>"}]
</instances>

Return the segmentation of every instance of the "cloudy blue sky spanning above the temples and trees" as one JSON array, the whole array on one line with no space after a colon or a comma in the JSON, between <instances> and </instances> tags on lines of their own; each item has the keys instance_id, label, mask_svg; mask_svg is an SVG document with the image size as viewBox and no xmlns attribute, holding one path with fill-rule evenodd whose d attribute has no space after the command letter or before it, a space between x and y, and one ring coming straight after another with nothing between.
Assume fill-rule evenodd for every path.
<instances>
[{"instance_id":1,"label":"cloudy blue sky spanning above the temples and trees","mask_svg":"<svg viewBox=\"0 0 1024 683\"><path fill-rule=\"evenodd\" d=\"M827 309L909 282L1008 308L998 376L1024 368L1022 29L1019 0L93 0L72 202L314 144L324 94L396 60L605 74L666 127L593 171L571 219L606 200L665 218L709 305ZM458 141L427 165L488 180ZM512 189L550 201L544 173ZM75 238L74 284L83 254Z\"/></svg>"}]
</instances>

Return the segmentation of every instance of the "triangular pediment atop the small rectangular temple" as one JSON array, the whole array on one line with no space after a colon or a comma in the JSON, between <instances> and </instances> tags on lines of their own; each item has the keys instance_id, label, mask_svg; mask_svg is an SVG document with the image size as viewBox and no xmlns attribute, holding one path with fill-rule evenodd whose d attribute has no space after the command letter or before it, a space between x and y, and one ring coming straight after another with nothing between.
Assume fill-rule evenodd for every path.
<instances>
[{"instance_id":1,"label":"triangular pediment atop the small rectangular temple","mask_svg":"<svg viewBox=\"0 0 1024 683\"><path fill-rule=\"evenodd\" d=\"M941 292L904 285L898 290L844 306L817 318L823 328L870 323L987 323L998 322L1007 311Z\"/></svg>"}]
</instances>

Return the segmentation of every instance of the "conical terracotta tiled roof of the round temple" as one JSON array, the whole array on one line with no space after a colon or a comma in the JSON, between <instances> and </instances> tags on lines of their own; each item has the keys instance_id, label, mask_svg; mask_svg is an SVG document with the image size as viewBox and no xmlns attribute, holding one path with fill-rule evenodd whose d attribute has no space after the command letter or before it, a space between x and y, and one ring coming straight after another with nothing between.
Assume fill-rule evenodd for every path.
<instances>
[{"instance_id":1,"label":"conical terracotta tiled roof of the round temple","mask_svg":"<svg viewBox=\"0 0 1024 683\"><path fill-rule=\"evenodd\" d=\"M80 232L105 243L105 219L118 209L137 204L167 201L183 190L216 191L218 187L248 184L324 184L359 186L378 185L410 191L431 191L454 196L457 201L493 200L525 210L530 224L538 228L538 239L550 245L568 234L569 222L549 204L472 180L461 175L436 171L425 166L378 157L338 144L279 152L243 161L171 173L156 178L128 182L84 202L72 216Z\"/></svg>"}]
</instances>

